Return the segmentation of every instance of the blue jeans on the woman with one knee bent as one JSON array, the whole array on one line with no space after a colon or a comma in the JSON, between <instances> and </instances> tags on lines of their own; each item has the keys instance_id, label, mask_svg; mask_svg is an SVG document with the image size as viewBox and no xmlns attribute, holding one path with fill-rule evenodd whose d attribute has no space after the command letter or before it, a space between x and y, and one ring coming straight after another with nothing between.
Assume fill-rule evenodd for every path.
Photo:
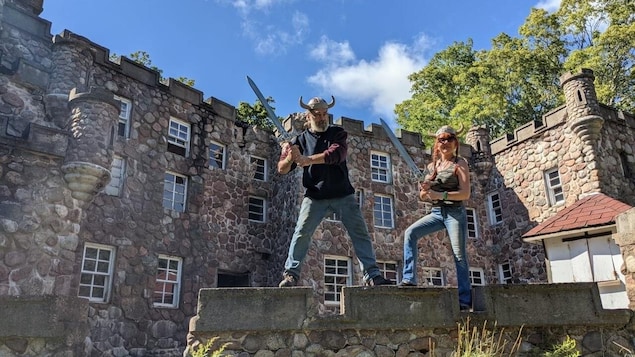
<instances>
[{"instance_id":1,"label":"blue jeans on the woman with one knee bent","mask_svg":"<svg viewBox=\"0 0 635 357\"><path fill-rule=\"evenodd\" d=\"M467 214L463 206L432 207L428 215L406 229L403 242L403 282L417 284L417 241L419 238L444 228L448 231L456 263L459 303L469 306L472 304L472 293L466 254Z\"/></svg>"}]
</instances>

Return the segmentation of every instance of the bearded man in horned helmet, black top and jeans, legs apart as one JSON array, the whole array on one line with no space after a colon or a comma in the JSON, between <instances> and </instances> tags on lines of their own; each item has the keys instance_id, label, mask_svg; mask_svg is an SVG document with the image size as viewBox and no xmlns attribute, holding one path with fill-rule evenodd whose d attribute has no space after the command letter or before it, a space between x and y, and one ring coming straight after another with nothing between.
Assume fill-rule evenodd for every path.
<instances>
[{"instance_id":1,"label":"bearded man in horned helmet, black top and jeans, legs apart","mask_svg":"<svg viewBox=\"0 0 635 357\"><path fill-rule=\"evenodd\" d=\"M341 215L342 223L353 242L355 255L360 261L366 285L389 285L392 281L385 279L377 267L368 228L355 199L355 189L348 178L348 133L341 127L329 125L328 110L335 105L335 98L331 98L331 103L315 97L305 104L300 97L300 106L307 110L307 128L291 143L282 146L278 173L284 175L298 166L302 167L305 194L279 286L298 284L311 237L318 224L331 212Z\"/></svg>"}]
</instances>

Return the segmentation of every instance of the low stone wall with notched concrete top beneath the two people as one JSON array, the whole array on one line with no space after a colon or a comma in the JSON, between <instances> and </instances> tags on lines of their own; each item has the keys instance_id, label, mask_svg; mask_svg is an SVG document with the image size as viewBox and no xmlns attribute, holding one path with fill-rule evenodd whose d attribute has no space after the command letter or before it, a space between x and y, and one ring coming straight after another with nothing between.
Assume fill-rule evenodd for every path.
<instances>
[{"instance_id":1,"label":"low stone wall with notched concrete top beneath the two people","mask_svg":"<svg viewBox=\"0 0 635 357\"><path fill-rule=\"evenodd\" d=\"M460 325L469 334L485 327L508 348L520 339L524 355L567 336L582 355L634 348L633 312L603 310L592 283L484 287L483 310L473 313L458 311L453 288L345 287L343 294L342 315L322 317L310 288L203 289L188 352L216 338L216 348L226 344L226 353L243 357L450 356Z\"/></svg>"}]
</instances>

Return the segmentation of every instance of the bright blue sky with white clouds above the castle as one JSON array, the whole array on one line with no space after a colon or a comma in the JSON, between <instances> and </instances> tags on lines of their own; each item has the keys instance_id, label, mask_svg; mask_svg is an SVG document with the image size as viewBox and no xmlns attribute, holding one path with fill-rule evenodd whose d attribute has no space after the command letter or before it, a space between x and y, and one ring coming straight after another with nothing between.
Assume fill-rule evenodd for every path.
<instances>
[{"instance_id":1,"label":"bright blue sky with white clouds above the castle","mask_svg":"<svg viewBox=\"0 0 635 357\"><path fill-rule=\"evenodd\" d=\"M453 42L489 49L517 36L532 7L560 0L45 0L52 34L64 29L111 53L150 54L165 77L188 77L204 98L253 103L250 76L276 114L299 96L335 96L330 112L394 122L410 98L407 77Z\"/></svg>"}]
</instances>

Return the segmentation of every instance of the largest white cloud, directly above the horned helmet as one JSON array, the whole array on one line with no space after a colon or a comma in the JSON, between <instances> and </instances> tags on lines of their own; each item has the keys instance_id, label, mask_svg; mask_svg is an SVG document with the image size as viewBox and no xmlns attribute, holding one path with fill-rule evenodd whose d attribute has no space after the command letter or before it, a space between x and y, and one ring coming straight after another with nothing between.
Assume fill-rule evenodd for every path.
<instances>
[{"instance_id":1,"label":"largest white cloud, directly above the horned helmet","mask_svg":"<svg viewBox=\"0 0 635 357\"><path fill-rule=\"evenodd\" d=\"M356 60L348 42L338 43L323 37L311 56L324 62L324 67L308 81L351 106L370 103L373 113L393 118L395 104L410 98L408 76L425 66L423 52L429 48L429 42L424 35L411 45L387 42L377 58Z\"/></svg>"}]
</instances>

